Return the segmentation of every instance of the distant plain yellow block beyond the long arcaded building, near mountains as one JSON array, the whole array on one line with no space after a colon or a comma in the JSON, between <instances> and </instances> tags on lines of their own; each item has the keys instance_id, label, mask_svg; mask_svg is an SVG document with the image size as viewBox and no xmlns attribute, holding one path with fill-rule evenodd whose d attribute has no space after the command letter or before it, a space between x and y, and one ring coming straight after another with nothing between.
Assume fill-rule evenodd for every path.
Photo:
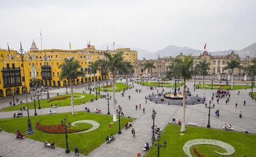
<instances>
[{"instance_id":1,"label":"distant plain yellow block beyond the long arcaded building, near mountains","mask_svg":"<svg viewBox=\"0 0 256 157\"><path fill-rule=\"evenodd\" d=\"M123 59L125 61L130 61L132 64L135 63L135 61L138 60L138 51L131 50L130 48L119 48L114 51L107 51L111 55L114 55L116 53L124 53Z\"/></svg>"}]
</instances>

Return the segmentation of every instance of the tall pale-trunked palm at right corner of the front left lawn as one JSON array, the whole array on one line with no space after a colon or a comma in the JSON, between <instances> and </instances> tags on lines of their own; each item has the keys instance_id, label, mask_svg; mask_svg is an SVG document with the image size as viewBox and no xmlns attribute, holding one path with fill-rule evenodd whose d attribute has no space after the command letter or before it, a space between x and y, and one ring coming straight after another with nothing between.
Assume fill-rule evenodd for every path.
<instances>
[{"instance_id":1,"label":"tall pale-trunked palm at right corner of the front left lawn","mask_svg":"<svg viewBox=\"0 0 256 157\"><path fill-rule=\"evenodd\" d=\"M102 59L98 59L96 62L100 65L106 65L106 71L112 72L112 84L113 84L113 121L116 122L116 106L115 106L115 92L116 92L116 69L122 69L125 66L125 62L122 57L123 53L116 53L113 56L110 53L104 53Z\"/></svg>"}]
</instances>

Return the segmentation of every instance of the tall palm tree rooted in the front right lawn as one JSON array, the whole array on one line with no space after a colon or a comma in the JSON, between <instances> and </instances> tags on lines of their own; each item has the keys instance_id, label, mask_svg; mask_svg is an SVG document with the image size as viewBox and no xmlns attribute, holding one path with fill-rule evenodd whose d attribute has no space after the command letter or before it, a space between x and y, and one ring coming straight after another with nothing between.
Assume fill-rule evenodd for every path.
<instances>
[{"instance_id":1,"label":"tall palm tree rooted in the front right lawn","mask_svg":"<svg viewBox=\"0 0 256 157\"><path fill-rule=\"evenodd\" d=\"M182 132L185 130L185 108L186 108L186 80L192 78L192 67L193 67L193 58L191 55L185 56L184 58L176 57L172 59L171 67L173 71L176 72L177 75L180 75L184 78L184 86L183 86L183 108L182 108Z\"/></svg>"}]
</instances>

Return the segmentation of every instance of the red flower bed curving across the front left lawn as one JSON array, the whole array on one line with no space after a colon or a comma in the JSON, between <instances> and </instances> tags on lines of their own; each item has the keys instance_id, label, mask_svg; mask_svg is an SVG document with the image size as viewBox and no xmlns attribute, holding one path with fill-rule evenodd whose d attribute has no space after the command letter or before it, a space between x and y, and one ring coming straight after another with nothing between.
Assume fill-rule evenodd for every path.
<instances>
[{"instance_id":1,"label":"red flower bed curving across the front left lawn","mask_svg":"<svg viewBox=\"0 0 256 157\"><path fill-rule=\"evenodd\" d=\"M46 132L46 133L65 133L65 127L64 125L42 125L39 122L36 122L36 129L40 130L42 132ZM72 132L79 132L79 131L83 131L83 130L87 130L86 129L67 129L67 133L72 133Z\"/></svg>"}]
</instances>

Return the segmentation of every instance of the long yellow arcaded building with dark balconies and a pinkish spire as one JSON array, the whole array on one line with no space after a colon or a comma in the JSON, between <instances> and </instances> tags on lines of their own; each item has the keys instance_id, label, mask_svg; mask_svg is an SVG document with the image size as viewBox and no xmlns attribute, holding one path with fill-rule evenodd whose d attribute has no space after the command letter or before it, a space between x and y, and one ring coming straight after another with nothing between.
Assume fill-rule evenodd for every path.
<instances>
[{"instance_id":1,"label":"long yellow arcaded building with dark balconies and a pinkish spire","mask_svg":"<svg viewBox=\"0 0 256 157\"><path fill-rule=\"evenodd\" d=\"M95 74L91 72L88 65L90 63L96 61L103 57L105 51L96 50L93 45L88 46L85 49L78 49L78 50L62 50L62 49L45 49L45 50L38 50L36 44L32 43L30 51L28 53L33 56L34 60L28 63L30 70L29 70L29 77L30 81L32 79L40 79L41 84L46 86L46 82L48 82L48 86L64 86L66 83L70 84L70 80L60 80L60 73L61 70L58 66L64 63L64 59L66 57L74 57L77 59L81 65L80 71L84 71L85 77L78 77L73 78L73 84L82 84L88 81L96 81L98 80L106 80L109 79L109 76L106 72L104 72L104 67L101 67L101 71L97 71Z\"/></svg>"}]
</instances>

